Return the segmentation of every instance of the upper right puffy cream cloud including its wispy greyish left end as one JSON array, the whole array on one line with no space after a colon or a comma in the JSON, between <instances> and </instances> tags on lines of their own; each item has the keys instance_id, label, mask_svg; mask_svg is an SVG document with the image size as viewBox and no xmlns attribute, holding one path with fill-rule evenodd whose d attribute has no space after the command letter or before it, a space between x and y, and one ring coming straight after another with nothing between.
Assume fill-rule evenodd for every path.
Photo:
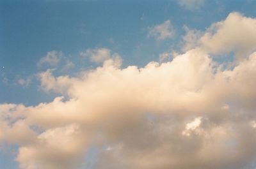
<instances>
[{"instance_id":1,"label":"upper right puffy cream cloud including its wispy greyish left end","mask_svg":"<svg viewBox=\"0 0 256 169\"><path fill-rule=\"evenodd\" d=\"M186 42L184 51L200 47L209 54L235 52L236 58L241 59L255 51L255 29L255 18L233 12L225 20L212 24L204 33L185 27L187 34L183 38Z\"/></svg>"}]
</instances>

